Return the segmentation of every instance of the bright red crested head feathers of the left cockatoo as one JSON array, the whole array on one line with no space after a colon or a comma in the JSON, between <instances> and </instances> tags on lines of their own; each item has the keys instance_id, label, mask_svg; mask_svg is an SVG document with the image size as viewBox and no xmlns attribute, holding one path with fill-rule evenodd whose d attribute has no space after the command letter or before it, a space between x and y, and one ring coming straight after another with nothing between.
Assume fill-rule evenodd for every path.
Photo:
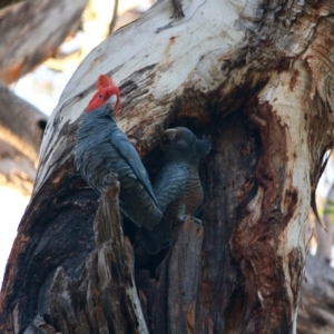
<instances>
[{"instance_id":1,"label":"bright red crested head feathers of the left cockatoo","mask_svg":"<svg viewBox=\"0 0 334 334\"><path fill-rule=\"evenodd\" d=\"M121 108L120 102L120 92L118 87L114 84L111 78L106 75L99 76L98 81L96 82L97 92L94 95L91 100L86 108L86 111L94 111L95 109L104 106L110 96L117 96L117 102L115 108L115 116L119 115L119 110Z\"/></svg>"}]
</instances>

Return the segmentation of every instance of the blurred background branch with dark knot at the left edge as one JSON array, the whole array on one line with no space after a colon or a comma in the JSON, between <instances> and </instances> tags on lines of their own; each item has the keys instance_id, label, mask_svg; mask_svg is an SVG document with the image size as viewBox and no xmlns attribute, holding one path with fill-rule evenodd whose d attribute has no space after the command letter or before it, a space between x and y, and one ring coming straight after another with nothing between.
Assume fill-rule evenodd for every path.
<instances>
[{"instance_id":1,"label":"blurred background branch with dark knot at the left edge","mask_svg":"<svg viewBox=\"0 0 334 334\"><path fill-rule=\"evenodd\" d=\"M31 194L48 118L0 85L0 186Z\"/></svg>"}]
</instances>

